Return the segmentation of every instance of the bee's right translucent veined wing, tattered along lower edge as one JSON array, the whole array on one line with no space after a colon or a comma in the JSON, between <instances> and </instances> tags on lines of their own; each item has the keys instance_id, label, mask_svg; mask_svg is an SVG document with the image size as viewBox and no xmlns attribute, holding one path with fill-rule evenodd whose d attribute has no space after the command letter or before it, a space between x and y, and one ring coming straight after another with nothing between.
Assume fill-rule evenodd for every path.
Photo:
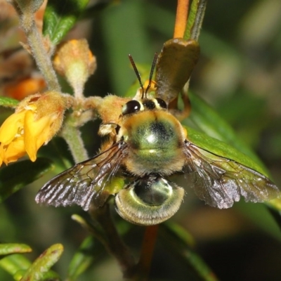
<instances>
[{"instance_id":1,"label":"bee's right translucent veined wing, tattered along lower edge","mask_svg":"<svg viewBox=\"0 0 281 281\"><path fill-rule=\"evenodd\" d=\"M281 195L269 178L238 162L214 155L189 142L185 155L185 171L196 195L212 207L232 207L241 195L245 201L251 202L264 202Z\"/></svg>"}]
</instances>

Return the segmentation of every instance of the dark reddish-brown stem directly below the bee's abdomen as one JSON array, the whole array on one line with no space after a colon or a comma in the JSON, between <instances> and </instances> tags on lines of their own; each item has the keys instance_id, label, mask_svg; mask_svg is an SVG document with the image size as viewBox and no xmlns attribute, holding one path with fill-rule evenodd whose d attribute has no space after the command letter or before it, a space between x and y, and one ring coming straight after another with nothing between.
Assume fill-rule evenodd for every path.
<instances>
[{"instance_id":1,"label":"dark reddish-brown stem directly below the bee's abdomen","mask_svg":"<svg viewBox=\"0 0 281 281\"><path fill-rule=\"evenodd\" d=\"M147 226L143 237L143 246L141 248L141 257L138 262L138 274L141 275L141 280L148 280L155 242L157 239L159 225Z\"/></svg>"}]
</instances>

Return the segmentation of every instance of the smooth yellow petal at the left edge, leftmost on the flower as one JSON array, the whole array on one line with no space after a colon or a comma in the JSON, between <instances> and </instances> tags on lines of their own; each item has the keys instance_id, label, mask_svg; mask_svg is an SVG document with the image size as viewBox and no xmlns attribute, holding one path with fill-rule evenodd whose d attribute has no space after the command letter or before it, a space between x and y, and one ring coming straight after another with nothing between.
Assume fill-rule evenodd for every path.
<instances>
[{"instance_id":1,"label":"smooth yellow petal at the left edge, leftmost on the flower","mask_svg":"<svg viewBox=\"0 0 281 281\"><path fill-rule=\"evenodd\" d=\"M0 143L8 145L13 141L15 135L23 128L25 111L13 113L9 116L0 128Z\"/></svg>"}]
</instances>

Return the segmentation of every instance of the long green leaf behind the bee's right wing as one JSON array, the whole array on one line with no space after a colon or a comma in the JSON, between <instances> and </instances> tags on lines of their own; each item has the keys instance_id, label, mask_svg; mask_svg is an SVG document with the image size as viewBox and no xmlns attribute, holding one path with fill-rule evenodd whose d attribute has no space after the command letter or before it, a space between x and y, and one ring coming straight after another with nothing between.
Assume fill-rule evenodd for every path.
<instances>
[{"instance_id":1,"label":"long green leaf behind the bee's right wing","mask_svg":"<svg viewBox=\"0 0 281 281\"><path fill-rule=\"evenodd\" d=\"M236 136L231 126L210 105L190 91L188 96L192 107L188 119L206 133L205 135L189 128L188 138L192 143L216 155L248 166L265 176L270 176L259 157ZM266 204L277 211L281 210L281 199L270 200Z\"/></svg>"}]
</instances>

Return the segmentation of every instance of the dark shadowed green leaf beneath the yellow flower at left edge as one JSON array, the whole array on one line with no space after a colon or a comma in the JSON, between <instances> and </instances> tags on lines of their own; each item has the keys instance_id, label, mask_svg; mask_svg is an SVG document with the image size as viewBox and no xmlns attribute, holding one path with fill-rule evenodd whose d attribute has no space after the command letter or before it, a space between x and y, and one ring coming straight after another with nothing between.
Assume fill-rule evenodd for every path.
<instances>
[{"instance_id":1,"label":"dark shadowed green leaf beneath the yellow flower at left edge","mask_svg":"<svg viewBox=\"0 0 281 281\"><path fill-rule=\"evenodd\" d=\"M24 160L0 169L0 203L14 192L40 178L52 167L51 161L38 158L36 162Z\"/></svg>"}]
</instances>

